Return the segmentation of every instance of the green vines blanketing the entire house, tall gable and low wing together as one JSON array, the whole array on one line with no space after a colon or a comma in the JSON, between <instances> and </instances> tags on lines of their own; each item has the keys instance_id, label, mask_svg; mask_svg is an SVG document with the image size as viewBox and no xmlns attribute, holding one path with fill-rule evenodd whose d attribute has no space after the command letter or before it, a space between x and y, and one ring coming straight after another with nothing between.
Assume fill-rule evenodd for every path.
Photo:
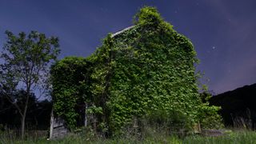
<instances>
[{"instance_id":1,"label":"green vines blanketing the entire house, tall gable and low wing together","mask_svg":"<svg viewBox=\"0 0 256 144\"><path fill-rule=\"evenodd\" d=\"M82 119L105 136L128 128L142 132L146 125L170 132L192 130L198 122L219 126L219 108L198 94L196 62L190 40L155 8L144 7L134 26L109 34L89 58L52 66L54 111L70 128Z\"/></svg>"}]
</instances>

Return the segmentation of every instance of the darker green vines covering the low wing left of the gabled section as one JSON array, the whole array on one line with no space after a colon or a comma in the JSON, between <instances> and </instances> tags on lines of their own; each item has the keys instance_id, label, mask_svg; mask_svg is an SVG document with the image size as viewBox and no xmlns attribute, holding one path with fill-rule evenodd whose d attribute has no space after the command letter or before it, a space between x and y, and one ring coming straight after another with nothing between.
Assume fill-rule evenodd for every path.
<instances>
[{"instance_id":1,"label":"darker green vines covering the low wing left of the gabled section","mask_svg":"<svg viewBox=\"0 0 256 144\"><path fill-rule=\"evenodd\" d=\"M54 112L64 118L70 128L76 126L78 110L90 101L88 82L90 62L86 58L67 57L51 67ZM79 107L80 105L80 107Z\"/></svg>"}]
</instances>

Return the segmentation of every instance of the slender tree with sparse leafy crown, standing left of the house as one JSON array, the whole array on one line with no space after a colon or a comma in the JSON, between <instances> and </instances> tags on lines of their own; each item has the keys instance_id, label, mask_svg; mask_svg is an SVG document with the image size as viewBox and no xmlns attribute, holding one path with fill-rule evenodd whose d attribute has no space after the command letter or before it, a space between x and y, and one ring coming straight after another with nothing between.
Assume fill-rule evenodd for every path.
<instances>
[{"instance_id":1,"label":"slender tree with sparse leafy crown, standing left of the house","mask_svg":"<svg viewBox=\"0 0 256 144\"><path fill-rule=\"evenodd\" d=\"M31 31L17 36L6 31L7 42L3 46L0 58L0 84L8 100L16 107L21 116L22 138L24 138L26 113L30 94L34 90L43 90L49 74L49 66L60 52L58 38L46 38L45 34ZM24 106L18 106L14 98L15 91L24 90Z\"/></svg>"}]
</instances>

